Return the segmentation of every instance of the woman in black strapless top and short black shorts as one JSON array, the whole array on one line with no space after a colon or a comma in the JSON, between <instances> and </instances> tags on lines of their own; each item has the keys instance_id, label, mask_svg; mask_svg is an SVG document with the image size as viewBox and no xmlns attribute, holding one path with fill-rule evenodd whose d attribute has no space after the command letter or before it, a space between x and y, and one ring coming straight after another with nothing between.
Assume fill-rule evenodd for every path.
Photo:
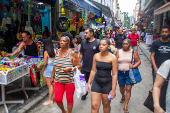
<instances>
[{"instance_id":1,"label":"woman in black strapless top and short black shorts","mask_svg":"<svg viewBox=\"0 0 170 113\"><path fill-rule=\"evenodd\" d=\"M100 52L93 57L93 67L88 81L89 92L91 88L91 113L99 112L101 100L104 113L110 113L111 100L108 96L111 94L111 99L116 96L118 61L115 55L108 52L109 48L110 41L107 38L101 39Z\"/></svg>"}]
</instances>

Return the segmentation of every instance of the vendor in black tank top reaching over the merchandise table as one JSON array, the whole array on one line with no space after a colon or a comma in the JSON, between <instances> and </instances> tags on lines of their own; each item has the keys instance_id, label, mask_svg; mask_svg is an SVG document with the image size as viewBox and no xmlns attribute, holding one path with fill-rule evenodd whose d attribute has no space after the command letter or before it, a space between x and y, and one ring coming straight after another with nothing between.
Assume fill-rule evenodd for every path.
<instances>
[{"instance_id":1,"label":"vendor in black tank top reaching over the merchandise table","mask_svg":"<svg viewBox=\"0 0 170 113\"><path fill-rule=\"evenodd\" d=\"M19 45L19 47L13 52L8 54L8 56L13 56L17 53L20 53L23 49L25 51L25 55L28 56L38 56L40 55L40 49L37 46L36 42L32 39L32 35L28 31L22 32L23 42Z\"/></svg>"}]
</instances>

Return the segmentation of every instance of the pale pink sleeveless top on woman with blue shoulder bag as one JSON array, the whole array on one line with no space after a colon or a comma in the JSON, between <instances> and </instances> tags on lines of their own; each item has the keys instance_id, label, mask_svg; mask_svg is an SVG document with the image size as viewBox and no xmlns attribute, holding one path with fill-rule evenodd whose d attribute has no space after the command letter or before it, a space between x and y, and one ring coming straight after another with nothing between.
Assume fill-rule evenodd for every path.
<instances>
[{"instance_id":1,"label":"pale pink sleeveless top on woman with blue shoulder bag","mask_svg":"<svg viewBox=\"0 0 170 113\"><path fill-rule=\"evenodd\" d=\"M123 49L119 50L119 56L118 56L118 70L120 71L128 71L129 70L129 64L132 60L132 49L128 52L123 51Z\"/></svg>"}]
</instances>

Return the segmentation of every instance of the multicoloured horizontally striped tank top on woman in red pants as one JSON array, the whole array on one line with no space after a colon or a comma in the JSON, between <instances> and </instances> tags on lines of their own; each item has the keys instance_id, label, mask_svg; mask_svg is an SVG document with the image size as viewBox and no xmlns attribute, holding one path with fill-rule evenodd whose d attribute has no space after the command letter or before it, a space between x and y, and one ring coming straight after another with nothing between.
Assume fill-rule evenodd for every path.
<instances>
[{"instance_id":1,"label":"multicoloured horizontally striped tank top on woman in red pants","mask_svg":"<svg viewBox=\"0 0 170 113\"><path fill-rule=\"evenodd\" d=\"M55 66L55 82L58 83L64 83L64 84L71 84L74 82L73 80L73 71L69 71L68 73L65 73L63 71L63 68L66 67L73 67L73 63L71 62L70 55L71 55L71 49L69 50L68 54L65 57L59 57L61 49L58 50L58 53L54 60L54 66Z\"/></svg>"}]
</instances>

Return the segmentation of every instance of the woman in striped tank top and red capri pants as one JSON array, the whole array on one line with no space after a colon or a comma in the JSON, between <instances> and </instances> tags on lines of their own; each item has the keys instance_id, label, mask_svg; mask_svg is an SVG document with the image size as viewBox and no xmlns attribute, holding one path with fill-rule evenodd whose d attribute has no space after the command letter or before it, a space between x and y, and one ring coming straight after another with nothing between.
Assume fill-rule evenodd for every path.
<instances>
[{"instance_id":1,"label":"woman in striped tank top and red capri pants","mask_svg":"<svg viewBox=\"0 0 170 113\"><path fill-rule=\"evenodd\" d=\"M54 100L62 113L71 113L73 108L74 80L73 75L76 68L80 69L81 64L77 54L69 49L70 34L61 36L60 49L56 51L51 82L54 82ZM67 108L63 106L63 94L66 91Z\"/></svg>"}]
</instances>

